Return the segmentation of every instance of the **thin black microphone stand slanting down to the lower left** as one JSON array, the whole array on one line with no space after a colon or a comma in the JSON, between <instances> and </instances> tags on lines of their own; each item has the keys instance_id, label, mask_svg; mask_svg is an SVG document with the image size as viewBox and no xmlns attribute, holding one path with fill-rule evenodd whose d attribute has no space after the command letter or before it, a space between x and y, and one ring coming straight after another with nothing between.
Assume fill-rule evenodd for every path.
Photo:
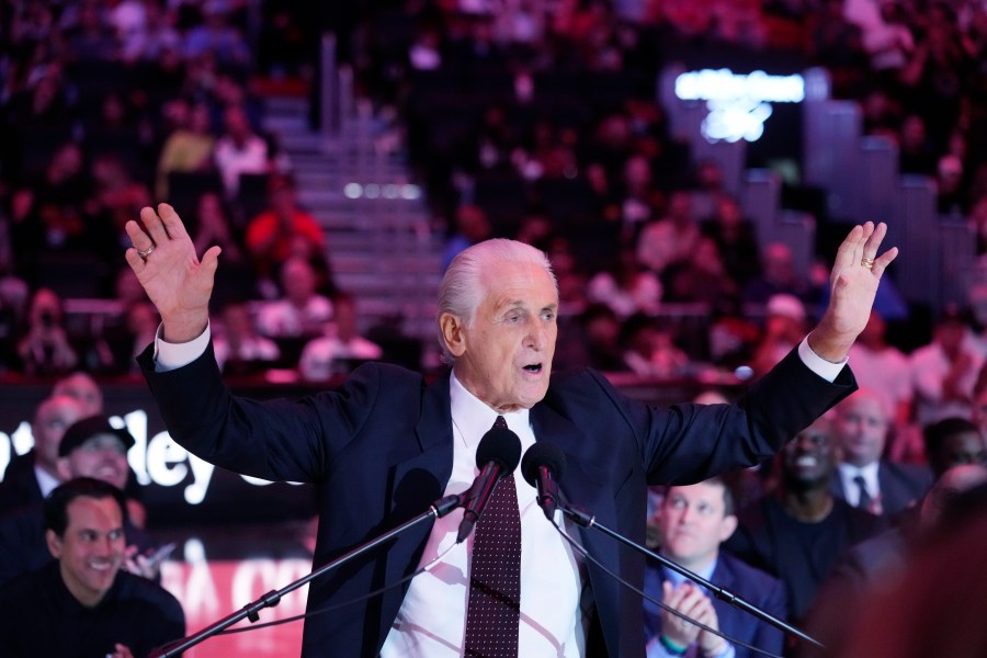
<instances>
[{"instance_id":1,"label":"thin black microphone stand slanting down to the lower left","mask_svg":"<svg viewBox=\"0 0 987 658\"><path fill-rule=\"evenodd\" d=\"M432 518L441 519L442 517L446 515L447 513L450 513L457 507L462 506L464 496L465 496L465 494L453 494L451 496L446 496L445 498L443 498L441 500L436 500L431 506L429 506L429 509L427 511L415 517L413 519L406 521L401 525L398 525L397 527L389 530L382 535L377 535L373 540L366 542L365 544L363 544L361 546L358 546L356 548L353 548L349 553L344 553L343 555L340 555L332 561L326 563L325 565L322 565L315 571L311 571L308 575L303 576L298 580L295 580L294 582L283 587L282 589L273 590L273 591L268 592L266 594L263 594L257 601L253 601L252 603L248 603L247 605L245 605L242 609L238 610L237 612L223 617L222 620L219 620L218 622L216 622L209 626L206 626L205 628L203 628L195 635L190 635L189 637L181 639L178 645L172 646L172 647L168 647L168 645L164 645L168 648L160 647L160 648L155 649L154 651L148 654L148 658L167 658L169 656L175 656L175 655L184 651L185 649L194 647L198 643L212 637L213 635L216 635L219 632L225 631L226 628L232 626L234 624L236 624L237 622L241 621L245 617L249 619L251 623L257 622L260 619L258 613L261 610L263 610L264 608L274 608L275 605L277 605L281 602L281 598L284 597L285 594L295 591L296 589L298 589L303 585L308 583L311 580L315 580L322 574L326 574L327 571L330 571L330 570L334 569L336 567L344 565L345 563L350 561L351 559L359 557L373 548L376 548L384 542L387 542L387 541L398 536L399 534L401 534L409 527L413 527L413 526L418 525L419 523L421 523L422 521L426 521L426 520L432 519Z\"/></svg>"}]
</instances>

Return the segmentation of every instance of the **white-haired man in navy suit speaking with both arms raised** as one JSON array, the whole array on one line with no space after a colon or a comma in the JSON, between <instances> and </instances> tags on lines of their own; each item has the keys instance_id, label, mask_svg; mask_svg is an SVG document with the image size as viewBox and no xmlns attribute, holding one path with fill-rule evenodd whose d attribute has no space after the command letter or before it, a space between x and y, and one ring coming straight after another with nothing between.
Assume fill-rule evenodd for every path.
<instances>
[{"instance_id":1,"label":"white-haired man in navy suit speaking with both arms raised","mask_svg":"<svg viewBox=\"0 0 987 658\"><path fill-rule=\"evenodd\" d=\"M219 248L200 261L167 204L144 208L140 219L127 223L134 247L126 258L162 319L140 364L166 426L226 468L317 483L316 565L463 491L477 472L479 438L498 416L522 447L557 443L568 460L565 496L644 543L649 484L695 483L753 465L854 389L846 354L897 256L877 256L884 225L854 227L836 256L832 298L818 327L737 405L650 407L593 371L556 376L549 386L557 286L545 256L511 240L470 247L443 277L438 330L453 363L449 376L429 385L419 373L371 363L334 392L257 402L229 393L213 358L208 300ZM542 518L534 490L517 481L518 654L643 655L642 598L605 569L640 587L644 558L581 530L578 541L597 561L585 559ZM473 544L455 542L461 518L456 511L416 525L386 551L313 582L310 611L359 602L309 621L303 654L462 655ZM366 599L427 565L402 587ZM592 605L582 608L588 591Z\"/></svg>"}]
</instances>

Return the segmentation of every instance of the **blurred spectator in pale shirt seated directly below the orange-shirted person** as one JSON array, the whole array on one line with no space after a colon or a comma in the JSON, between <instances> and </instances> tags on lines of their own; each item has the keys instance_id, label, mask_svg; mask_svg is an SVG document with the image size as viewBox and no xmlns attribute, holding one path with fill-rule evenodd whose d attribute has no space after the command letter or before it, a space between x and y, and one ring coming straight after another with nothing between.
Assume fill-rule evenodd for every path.
<instances>
[{"instance_id":1,"label":"blurred spectator in pale shirt seated directly below the orange-shirted person","mask_svg":"<svg viewBox=\"0 0 987 658\"><path fill-rule=\"evenodd\" d=\"M264 302L257 317L266 337L304 337L322 333L332 319L332 302L316 292L316 274L308 261L292 258L281 269L284 298Z\"/></svg>"}]
</instances>

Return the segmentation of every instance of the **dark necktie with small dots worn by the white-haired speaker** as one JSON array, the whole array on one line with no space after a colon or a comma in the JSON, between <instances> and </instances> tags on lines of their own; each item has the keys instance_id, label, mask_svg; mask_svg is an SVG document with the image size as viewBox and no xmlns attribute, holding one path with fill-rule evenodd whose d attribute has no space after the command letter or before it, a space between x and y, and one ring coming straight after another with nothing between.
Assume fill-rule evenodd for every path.
<instances>
[{"instance_id":1,"label":"dark necktie with small dots worn by the white-haired speaker","mask_svg":"<svg viewBox=\"0 0 987 658\"><path fill-rule=\"evenodd\" d=\"M507 428L498 416L495 428ZM518 658L521 619L521 514L513 474L494 489L473 537L466 655Z\"/></svg>"}]
</instances>

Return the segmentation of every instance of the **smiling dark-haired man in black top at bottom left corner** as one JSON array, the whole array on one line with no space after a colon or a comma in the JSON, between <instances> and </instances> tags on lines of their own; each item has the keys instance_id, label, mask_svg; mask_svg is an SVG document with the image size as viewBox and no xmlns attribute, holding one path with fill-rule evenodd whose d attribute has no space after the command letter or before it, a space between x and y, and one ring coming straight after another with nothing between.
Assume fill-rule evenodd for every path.
<instances>
[{"instance_id":1,"label":"smiling dark-haired man in black top at bottom left corner","mask_svg":"<svg viewBox=\"0 0 987 658\"><path fill-rule=\"evenodd\" d=\"M127 658L184 635L178 600L122 570L126 506L120 490L72 479L45 500L44 521L37 514L49 560L0 588L0 654Z\"/></svg>"}]
</instances>

